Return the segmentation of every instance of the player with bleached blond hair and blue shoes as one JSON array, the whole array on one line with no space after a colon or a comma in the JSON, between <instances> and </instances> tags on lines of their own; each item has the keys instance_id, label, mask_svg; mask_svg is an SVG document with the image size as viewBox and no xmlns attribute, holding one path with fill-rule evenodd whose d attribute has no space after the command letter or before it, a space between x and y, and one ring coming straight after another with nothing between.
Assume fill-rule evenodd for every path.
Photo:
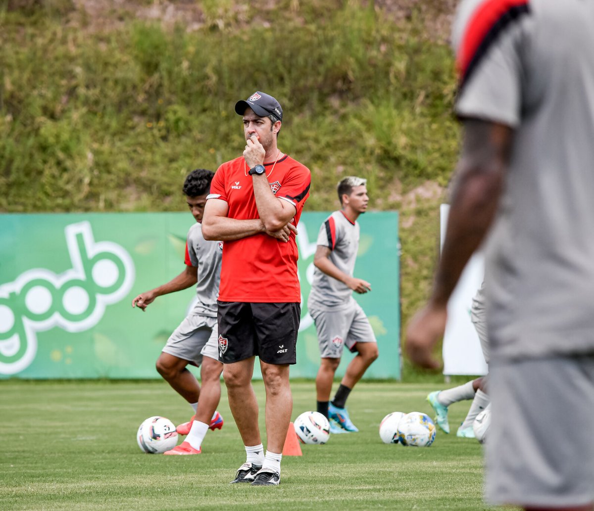
<instances>
[{"instance_id":1,"label":"player with bleached blond hair and blue shoes","mask_svg":"<svg viewBox=\"0 0 594 511\"><path fill-rule=\"evenodd\" d=\"M371 284L353 277L359 248L357 218L369 202L366 180L345 177L337 191L342 209L334 211L320 227L307 307L320 344L321 364L315 378L317 411L330 419L332 433L346 433L359 431L350 420L346 399L378 357L378 348L369 320L353 298L353 291L371 291ZM345 345L356 356L347 366L334 399L328 402Z\"/></svg>"}]
</instances>

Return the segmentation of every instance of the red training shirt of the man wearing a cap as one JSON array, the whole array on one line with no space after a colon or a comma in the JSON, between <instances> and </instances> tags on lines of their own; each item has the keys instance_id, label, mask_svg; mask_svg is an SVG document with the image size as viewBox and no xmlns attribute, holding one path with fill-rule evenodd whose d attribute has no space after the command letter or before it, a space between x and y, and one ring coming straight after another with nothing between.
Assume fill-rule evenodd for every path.
<instances>
[{"instance_id":1,"label":"red training shirt of the man wearing a cap","mask_svg":"<svg viewBox=\"0 0 594 511\"><path fill-rule=\"evenodd\" d=\"M268 183L277 198L295 206L297 212L291 223L297 226L309 196L311 174L307 167L287 155L276 162L274 170L273 165L273 162L264 164ZM229 218L260 218L252 176L247 174L248 170L244 157L241 156L223 163L214 174L207 199L225 201L229 207ZM219 300L301 302L298 258L299 252L293 235L287 243L264 233L225 242Z\"/></svg>"}]
</instances>

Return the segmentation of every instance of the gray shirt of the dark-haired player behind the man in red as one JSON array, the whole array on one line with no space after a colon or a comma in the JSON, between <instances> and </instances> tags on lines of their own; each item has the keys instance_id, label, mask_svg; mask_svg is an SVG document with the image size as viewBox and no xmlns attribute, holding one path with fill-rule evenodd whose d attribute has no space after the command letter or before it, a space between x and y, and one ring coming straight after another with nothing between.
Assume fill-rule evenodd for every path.
<instances>
[{"instance_id":1,"label":"gray shirt of the dark-haired player behind the man in red","mask_svg":"<svg viewBox=\"0 0 594 511\"><path fill-rule=\"evenodd\" d=\"M222 255L223 242L205 240L202 224L195 223L189 228L185 264L198 268L198 303L194 307L197 314L217 317Z\"/></svg>"}]
</instances>

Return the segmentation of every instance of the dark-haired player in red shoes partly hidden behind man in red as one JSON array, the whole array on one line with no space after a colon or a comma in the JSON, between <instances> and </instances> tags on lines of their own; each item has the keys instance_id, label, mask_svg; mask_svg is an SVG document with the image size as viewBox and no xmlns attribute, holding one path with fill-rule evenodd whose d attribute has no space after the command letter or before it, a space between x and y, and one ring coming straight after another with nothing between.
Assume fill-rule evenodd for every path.
<instances>
[{"instance_id":1,"label":"dark-haired player in red shoes partly hidden behind man in red","mask_svg":"<svg viewBox=\"0 0 594 511\"><path fill-rule=\"evenodd\" d=\"M169 337L157 359L157 371L194 409L191 421L178 426L185 441L167 451L168 455L200 454L208 429L221 429L223 418L216 411L220 400L220 375L217 345L217 296L222 260L221 243L207 241L202 235L201 222L206 196L214 173L197 169L188 174L184 182L184 195L196 223L189 229L185 269L168 283L139 294L132 307L146 310L154 299L196 285L197 303ZM200 367L200 384L189 372L187 365ZM200 396L200 399L198 399Z\"/></svg>"}]
</instances>

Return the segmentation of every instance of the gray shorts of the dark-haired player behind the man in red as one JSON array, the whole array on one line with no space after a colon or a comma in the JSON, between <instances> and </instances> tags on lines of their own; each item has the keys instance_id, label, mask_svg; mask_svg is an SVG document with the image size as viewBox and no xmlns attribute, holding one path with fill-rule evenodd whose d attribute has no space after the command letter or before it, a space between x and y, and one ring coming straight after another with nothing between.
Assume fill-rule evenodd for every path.
<instances>
[{"instance_id":1,"label":"gray shorts of the dark-haired player behind the man in red","mask_svg":"<svg viewBox=\"0 0 594 511\"><path fill-rule=\"evenodd\" d=\"M163 353L193 362L200 367L203 357L219 360L217 318L190 313L170 335Z\"/></svg>"}]
</instances>

